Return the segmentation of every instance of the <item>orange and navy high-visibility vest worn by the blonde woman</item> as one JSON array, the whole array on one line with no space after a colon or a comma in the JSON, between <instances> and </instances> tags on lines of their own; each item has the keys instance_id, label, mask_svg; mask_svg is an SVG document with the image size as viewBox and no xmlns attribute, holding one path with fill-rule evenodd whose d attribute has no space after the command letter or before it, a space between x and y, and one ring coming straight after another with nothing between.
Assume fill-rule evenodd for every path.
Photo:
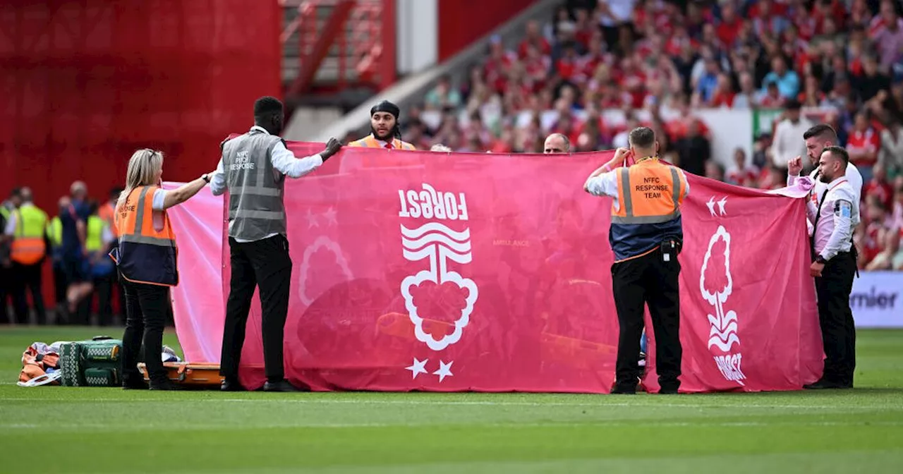
<instances>
[{"instance_id":1,"label":"orange and navy high-visibility vest worn by the blonde woman","mask_svg":"<svg viewBox=\"0 0 903 474\"><path fill-rule=\"evenodd\" d=\"M175 233L163 212L163 229L154 228L154 193L157 186L142 186L129 193L116 209L119 246L110 257L126 280L175 286L179 283Z\"/></svg>"}]
</instances>

